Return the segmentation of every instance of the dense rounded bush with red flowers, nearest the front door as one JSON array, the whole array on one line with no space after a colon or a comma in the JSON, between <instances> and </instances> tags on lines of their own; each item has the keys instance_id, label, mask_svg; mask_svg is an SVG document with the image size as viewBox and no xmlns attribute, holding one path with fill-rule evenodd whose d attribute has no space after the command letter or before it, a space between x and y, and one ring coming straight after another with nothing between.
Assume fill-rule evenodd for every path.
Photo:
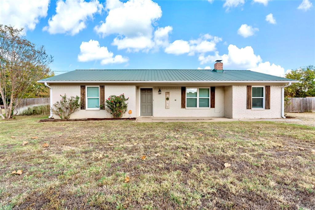
<instances>
[{"instance_id":1,"label":"dense rounded bush with red flowers, nearest the front door","mask_svg":"<svg viewBox=\"0 0 315 210\"><path fill-rule=\"evenodd\" d=\"M127 112L128 103L126 101L129 99L125 98L124 94L120 96L109 96L105 101L105 110L112 115L113 118L122 118L123 114Z\"/></svg>"}]
</instances>

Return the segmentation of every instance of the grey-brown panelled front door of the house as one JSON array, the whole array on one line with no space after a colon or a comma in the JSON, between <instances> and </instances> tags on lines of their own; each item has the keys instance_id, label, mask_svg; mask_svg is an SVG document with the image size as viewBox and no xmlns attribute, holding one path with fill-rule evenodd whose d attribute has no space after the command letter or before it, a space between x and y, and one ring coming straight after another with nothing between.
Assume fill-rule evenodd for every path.
<instances>
[{"instance_id":1,"label":"grey-brown panelled front door of the house","mask_svg":"<svg viewBox=\"0 0 315 210\"><path fill-rule=\"evenodd\" d=\"M152 88L140 88L140 115L152 116Z\"/></svg>"}]
</instances>

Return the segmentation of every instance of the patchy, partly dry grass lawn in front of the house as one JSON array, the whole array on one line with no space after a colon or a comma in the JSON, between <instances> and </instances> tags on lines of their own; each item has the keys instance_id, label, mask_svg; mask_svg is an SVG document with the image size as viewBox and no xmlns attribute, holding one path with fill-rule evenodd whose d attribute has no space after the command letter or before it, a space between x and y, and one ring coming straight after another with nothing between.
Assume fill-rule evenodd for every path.
<instances>
[{"instance_id":1,"label":"patchy, partly dry grass lawn in front of the house","mask_svg":"<svg viewBox=\"0 0 315 210\"><path fill-rule=\"evenodd\" d=\"M43 118L0 121L0 209L315 206L312 126Z\"/></svg>"}]
</instances>

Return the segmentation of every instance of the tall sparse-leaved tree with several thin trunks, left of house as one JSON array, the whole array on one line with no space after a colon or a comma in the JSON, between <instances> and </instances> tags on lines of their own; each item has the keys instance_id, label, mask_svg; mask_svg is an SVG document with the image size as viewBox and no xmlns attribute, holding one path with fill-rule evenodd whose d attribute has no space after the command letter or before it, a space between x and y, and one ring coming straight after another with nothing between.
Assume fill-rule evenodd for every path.
<instances>
[{"instance_id":1,"label":"tall sparse-leaved tree with several thin trunks, left of house","mask_svg":"<svg viewBox=\"0 0 315 210\"><path fill-rule=\"evenodd\" d=\"M44 46L37 47L23 36L21 29L0 24L0 96L4 115L14 116L14 99L20 99L31 91L32 84L50 73L48 65L53 57Z\"/></svg>"}]
</instances>

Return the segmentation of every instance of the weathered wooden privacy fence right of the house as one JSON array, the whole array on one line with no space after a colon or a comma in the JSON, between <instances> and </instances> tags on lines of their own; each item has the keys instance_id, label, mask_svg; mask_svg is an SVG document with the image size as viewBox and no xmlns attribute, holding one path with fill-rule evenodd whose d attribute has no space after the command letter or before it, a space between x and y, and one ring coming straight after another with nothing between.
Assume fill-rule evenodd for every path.
<instances>
[{"instance_id":1,"label":"weathered wooden privacy fence right of the house","mask_svg":"<svg viewBox=\"0 0 315 210\"><path fill-rule=\"evenodd\" d=\"M289 98L285 112L315 112L315 97Z\"/></svg>"}]
</instances>

